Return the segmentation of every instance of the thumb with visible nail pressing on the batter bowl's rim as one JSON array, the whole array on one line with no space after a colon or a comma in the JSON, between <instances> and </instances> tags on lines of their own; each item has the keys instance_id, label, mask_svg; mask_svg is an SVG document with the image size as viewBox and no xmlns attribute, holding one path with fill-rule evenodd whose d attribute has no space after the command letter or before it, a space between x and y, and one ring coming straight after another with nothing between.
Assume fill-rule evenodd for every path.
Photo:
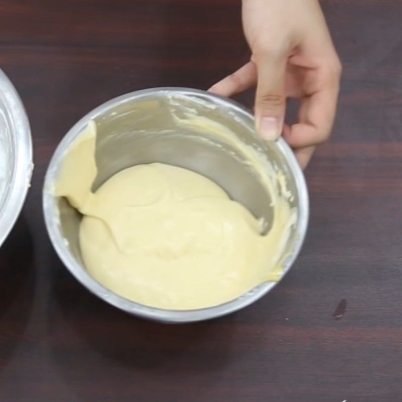
<instances>
[{"instance_id":1,"label":"thumb with visible nail pressing on the batter bowl's rim","mask_svg":"<svg viewBox=\"0 0 402 402\"><path fill-rule=\"evenodd\" d=\"M264 140L275 141L282 132L285 115L286 59L264 55L256 64L256 129Z\"/></svg>"}]
</instances>

